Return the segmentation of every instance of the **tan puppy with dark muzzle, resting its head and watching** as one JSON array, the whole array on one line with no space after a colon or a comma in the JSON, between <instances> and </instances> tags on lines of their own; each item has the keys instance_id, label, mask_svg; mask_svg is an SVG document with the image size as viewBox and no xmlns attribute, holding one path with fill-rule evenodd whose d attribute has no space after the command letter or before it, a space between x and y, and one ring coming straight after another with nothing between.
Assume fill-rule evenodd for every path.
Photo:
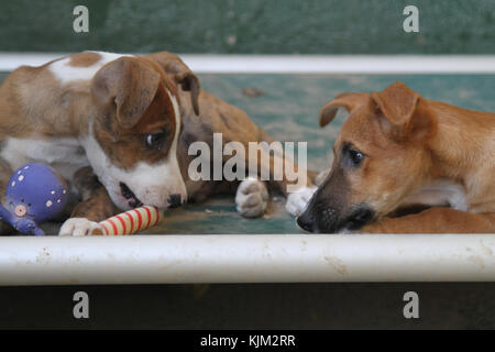
<instances>
[{"instance_id":1,"label":"tan puppy with dark muzzle, resting its head and watching","mask_svg":"<svg viewBox=\"0 0 495 352\"><path fill-rule=\"evenodd\" d=\"M298 224L310 232L495 232L495 113L420 97L402 82L324 106L349 111L334 161ZM402 210L427 208L397 216Z\"/></svg>"}]
</instances>

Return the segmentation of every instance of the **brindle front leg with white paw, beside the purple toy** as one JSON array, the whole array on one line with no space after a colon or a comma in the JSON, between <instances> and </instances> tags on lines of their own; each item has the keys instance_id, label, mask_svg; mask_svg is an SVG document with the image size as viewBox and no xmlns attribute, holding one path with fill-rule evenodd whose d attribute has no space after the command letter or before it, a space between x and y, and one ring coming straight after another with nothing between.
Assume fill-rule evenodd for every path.
<instances>
[{"instance_id":1,"label":"brindle front leg with white paw, beside the purple toy","mask_svg":"<svg viewBox=\"0 0 495 352\"><path fill-rule=\"evenodd\" d=\"M74 179L76 188L82 196L73 210L70 219L62 226L58 235L88 235L98 222L119 213L107 189L98 182L91 168L85 167L78 170Z\"/></svg>"}]
</instances>

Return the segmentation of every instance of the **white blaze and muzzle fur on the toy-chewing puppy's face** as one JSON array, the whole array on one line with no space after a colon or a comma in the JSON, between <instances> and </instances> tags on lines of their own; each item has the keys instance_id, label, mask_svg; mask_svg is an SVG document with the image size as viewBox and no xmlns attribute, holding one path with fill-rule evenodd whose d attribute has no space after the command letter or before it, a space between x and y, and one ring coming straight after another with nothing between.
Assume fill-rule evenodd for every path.
<instances>
[{"instance_id":1,"label":"white blaze and muzzle fur on the toy-chewing puppy's face","mask_svg":"<svg viewBox=\"0 0 495 352\"><path fill-rule=\"evenodd\" d=\"M167 208L169 206L168 198L174 194L180 195L183 200L187 198L186 185L177 162L180 114L177 99L170 92L167 91L167 94L174 107L176 129L168 155L163 162L156 164L141 162L132 169L125 170L112 164L105 154L92 135L92 125L90 134L81 141L95 174L107 188L113 202L123 210L130 209L130 206L129 200L122 196L120 183L124 183L146 206Z\"/></svg>"}]
</instances>

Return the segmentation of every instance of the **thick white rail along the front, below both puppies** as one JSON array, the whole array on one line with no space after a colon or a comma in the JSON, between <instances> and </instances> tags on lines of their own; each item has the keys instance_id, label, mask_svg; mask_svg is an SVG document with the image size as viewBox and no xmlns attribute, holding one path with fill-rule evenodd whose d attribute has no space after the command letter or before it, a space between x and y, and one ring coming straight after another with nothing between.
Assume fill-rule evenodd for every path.
<instances>
[{"instance_id":1,"label":"thick white rail along the front, below both puppies","mask_svg":"<svg viewBox=\"0 0 495 352\"><path fill-rule=\"evenodd\" d=\"M0 238L0 285L482 282L495 234Z\"/></svg>"}]
</instances>

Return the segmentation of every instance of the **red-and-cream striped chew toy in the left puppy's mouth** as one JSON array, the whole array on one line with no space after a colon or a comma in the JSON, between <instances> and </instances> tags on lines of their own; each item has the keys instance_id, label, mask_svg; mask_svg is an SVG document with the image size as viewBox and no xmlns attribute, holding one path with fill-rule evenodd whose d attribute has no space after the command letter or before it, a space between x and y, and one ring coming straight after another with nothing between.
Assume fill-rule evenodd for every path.
<instances>
[{"instance_id":1,"label":"red-and-cream striped chew toy in the left puppy's mouth","mask_svg":"<svg viewBox=\"0 0 495 352\"><path fill-rule=\"evenodd\" d=\"M122 212L98 223L91 231L96 235L125 235L156 226L163 218L163 211L156 207L141 207Z\"/></svg>"}]
</instances>

